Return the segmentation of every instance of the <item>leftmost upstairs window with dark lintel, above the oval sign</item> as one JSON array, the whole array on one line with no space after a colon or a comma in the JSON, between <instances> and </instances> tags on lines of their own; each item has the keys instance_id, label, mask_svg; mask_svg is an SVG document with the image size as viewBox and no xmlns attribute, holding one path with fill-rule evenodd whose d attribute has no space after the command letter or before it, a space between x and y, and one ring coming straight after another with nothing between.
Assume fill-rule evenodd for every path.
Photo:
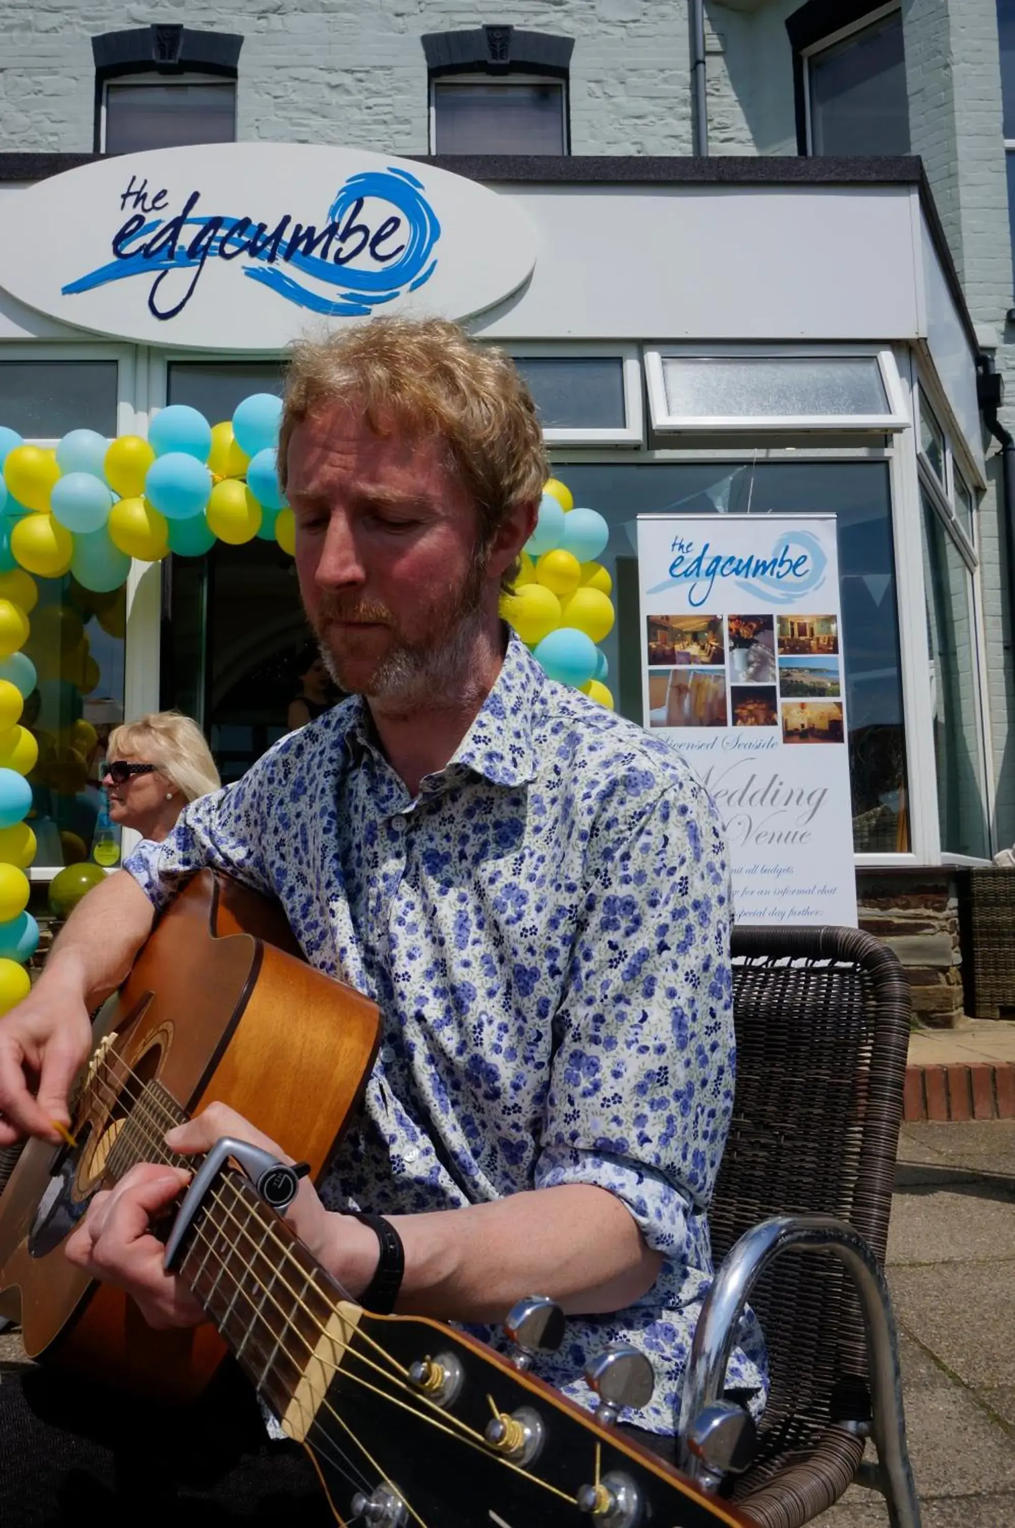
<instances>
[{"instance_id":1,"label":"leftmost upstairs window with dark lintel, above the oval sign","mask_svg":"<svg viewBox=\"0 0 1015 1528\"><path fill-rule=\"evenodd\" d=\"M185 26L95 37L96 151L234 142L241 44L234 34Z\"/></svg>"}]
</instances>

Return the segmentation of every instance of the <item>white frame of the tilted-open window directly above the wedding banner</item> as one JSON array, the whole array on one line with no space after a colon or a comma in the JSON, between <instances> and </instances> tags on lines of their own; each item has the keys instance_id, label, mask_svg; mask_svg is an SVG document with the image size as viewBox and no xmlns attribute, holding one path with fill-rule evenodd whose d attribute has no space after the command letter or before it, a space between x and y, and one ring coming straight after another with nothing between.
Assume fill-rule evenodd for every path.
<instances>
[{"instance_id":1,"label":"white frame of the tilted-open window directly above the wedding banner","mask_svg":"<svg viewBox=\"0 0 1015 1528\"><path fill-rule=\"evenodd\" d=\"M704 414L672 414L665 394L664 361L676 356L693 356L699 361L725 361L731 356L742 356L745 361L771 361L783 356L807 361L839 361L847 356L867 356L878 361L881 382L888 400L888 411L884 414L768 414L754 416L704 416ZM835 431L878 431L879 434L897 434L910 426L910 411L899 377L899 368L888 347L876 345L646 345L646 382L649 387L649 416L652 428L658 432L681 431L682 434L809 434L815 429Z\"/></svg>"}]
</instances>

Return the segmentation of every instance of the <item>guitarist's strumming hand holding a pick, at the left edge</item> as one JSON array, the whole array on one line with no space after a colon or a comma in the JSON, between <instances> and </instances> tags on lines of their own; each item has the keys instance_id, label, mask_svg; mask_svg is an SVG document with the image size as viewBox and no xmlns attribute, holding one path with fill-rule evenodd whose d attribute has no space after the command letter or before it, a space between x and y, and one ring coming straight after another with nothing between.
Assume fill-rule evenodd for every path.
<instances>
[{"instance_id":1,"label":"guitarist's strumming hand holding a pick, at the left edge","mask_svg":"<svg viewBox=\"0 0 1015 1528\"><path fill-rule=\"evenodd\" d=\"M24 1135L58 1141L70 1083L92 1050L92 1022L75 984L46 976L0 1019L0 1146Z\"/></svg>"}]
</instances>

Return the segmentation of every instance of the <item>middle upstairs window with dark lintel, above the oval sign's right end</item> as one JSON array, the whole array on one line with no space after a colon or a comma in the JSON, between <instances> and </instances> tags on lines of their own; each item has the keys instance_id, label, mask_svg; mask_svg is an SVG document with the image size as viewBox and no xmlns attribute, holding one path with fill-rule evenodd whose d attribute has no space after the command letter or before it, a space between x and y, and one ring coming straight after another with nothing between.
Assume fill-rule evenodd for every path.
<instances>
[{"instance_id":1,"label":"middle upstairs window with dark lintel, above the oval sign's right end","mask_svg":"<svg viewBox=\"0 0 1015 1528\"><path fill-rule=\"evenodd\" d=\"M435 154L566 154L566 37L481 26L423 38Z\"/></svg>"}]
</instances>

